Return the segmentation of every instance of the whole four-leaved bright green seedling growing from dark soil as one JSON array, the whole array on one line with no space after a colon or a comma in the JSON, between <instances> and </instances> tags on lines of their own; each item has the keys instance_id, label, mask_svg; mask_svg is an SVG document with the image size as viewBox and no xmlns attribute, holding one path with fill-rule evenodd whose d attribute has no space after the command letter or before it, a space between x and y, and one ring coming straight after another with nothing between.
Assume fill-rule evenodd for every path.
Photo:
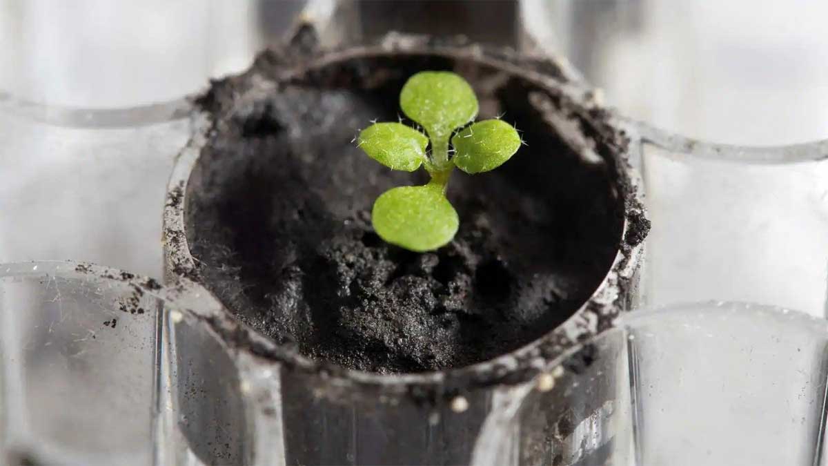
<instances>
[{"instance_id":1,"label":"whole four-leaved bright green seedling growing from dark soil","mask_svg":"<svg viewBox=\"0 0 828 466\"><path fill-rule=\"evenodd\" d=\"M413 75L402 86L400 107L428 137L402 123L374 123L359 133L357 146L394 170L413 172L425 166L431 181L383 192L373 203L373 229L392 245L416 252L436 250L460 226L457 211L445 198L451 172L455 167L469 174L489 172L511 158L522 141L500 119L469 124L477 116L477 97L468 82L448 71Z\"/></svg>"}]
</instances>

